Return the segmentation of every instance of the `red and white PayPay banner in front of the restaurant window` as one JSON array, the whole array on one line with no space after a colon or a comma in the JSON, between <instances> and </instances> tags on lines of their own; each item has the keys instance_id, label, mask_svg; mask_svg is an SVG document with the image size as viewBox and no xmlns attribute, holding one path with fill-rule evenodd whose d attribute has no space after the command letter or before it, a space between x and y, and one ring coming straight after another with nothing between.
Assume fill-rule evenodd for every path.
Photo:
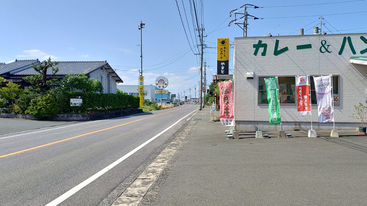
<instances>
[{"instance_id":1,"label":"red and white PayPay banner in front of the restaurant window","mask_svg":"<svg viewBox=\"0 0 367 206\"><path fill-rule=\"evenodd\" d=\"M297 110L299 115L311 113L308 75L296 76Z\"/></svg>"}]
</instances>

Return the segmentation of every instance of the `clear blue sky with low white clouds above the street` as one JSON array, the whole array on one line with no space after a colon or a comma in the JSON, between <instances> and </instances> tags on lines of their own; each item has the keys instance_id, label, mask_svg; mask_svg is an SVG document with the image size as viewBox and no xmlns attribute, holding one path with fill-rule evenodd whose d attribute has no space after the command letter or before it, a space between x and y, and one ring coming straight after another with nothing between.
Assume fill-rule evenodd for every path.
<instances>
[{"instance_id":1,"label":"clear blue sky with low white clouds above the street","mask_svg":"<svg viewBox=\"0 0 367 206\"><path fill-rule=\"evenodd\" d=\"M228 23L234 19L234 16L229 17L229 12L244 3L268 7L249 8L248 13L258 18L270 18L249 19L248 36L262 36L269 32L275 36L278 33L278 25L280 25L280 35L289 35L302 27L305 30L309 29L305 31L305 34L311 34L307 32L312 32L312 28L320 22L320 20L317 20L319 15L367 11L366 0L338 4L269 8L270 6L338 1L347 0L249 0L246 2L242 0L203 0L203 18L200 18L200 0L195 0L195 3L199 10L199 21L201 22L201 19L203 19L207 35L204 41L207 47L216 47L217 38L228 37L230 41L233 41L234 37L243 35L243 31L238 26L228 27ZM182 0L178 0L182 20L190 44L193 46L190 32L194 44L196 44L195 36L198 34L193 29L189 0L183 0L183 3L189 25L186 22ZM169 82L175 82L170 84L167 89L171 90L172 93L186 91L187 95L189 87L192 88L199 81L199 76L195 76L198 74L199 56L194 55L190 50L174 0L2 0L0 1L0 8L3 30L0 34L0 62L36 58L43 60L48 56L51 56L53 60L60 61L107 60L110 65L113 65L114 69L119 69L117 73L123 79L123 84L135 85L138 77L137 70L140 68L140 47L137 46L140 44L138 25L140 21L143 21L146 23L145 28L143 28L143 75L145 76L145 84L152 84L157 76L164 75ZM317 16L273 18L307 15ZM328 29L330 29L334 31L333 33L338 33L335 30L344 29L352 30L341 31L341 33L366 32L366 28L357 29L367 27L363 24L366 17L367 12L325 15L324 18L328 23L326 23L323 30L328 32ZM298 31L294 34L298 34ZM233 49L230 51L231 55L233 55L232 51ZM210 83L211 75L216 72L216 49L206 48L204 52L204 61L209 65L207 67L207 80ZM230 62L232 62L232 59L233 56L230 57ZM230 64L230 69L232 69L232 64ZM188 79L190 77L192 78ZM180 80L185 81L180 82ZM191 93L193 96L194 92Z\"/></svg>"}]
</instances>

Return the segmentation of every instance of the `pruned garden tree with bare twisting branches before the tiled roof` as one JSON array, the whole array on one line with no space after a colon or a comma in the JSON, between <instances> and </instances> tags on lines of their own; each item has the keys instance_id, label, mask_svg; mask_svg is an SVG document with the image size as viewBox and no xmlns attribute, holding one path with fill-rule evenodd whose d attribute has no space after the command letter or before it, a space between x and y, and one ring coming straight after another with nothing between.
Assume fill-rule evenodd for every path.
<instances>
[{"instance_id":1,"label":"pruned garden tree with bare twisting branches before the tiled roof","mask_svg":"<svg viewBox=\"0 0 367 206\"><path fill-rule=\"evenodd\" d=\"M30 67L32 67L39 74L23 77L23 80L32 85L29 88L30 90L44 93L48 88L51 87L52 83L58 81L58 77L55 76L55 74L59 71L59 67L55 67L58 64L59 62L51 62L51 57L38 65L32 63ZM48 69L52 70L51 74L47 74Z\"/></svg>"}]
</instances>

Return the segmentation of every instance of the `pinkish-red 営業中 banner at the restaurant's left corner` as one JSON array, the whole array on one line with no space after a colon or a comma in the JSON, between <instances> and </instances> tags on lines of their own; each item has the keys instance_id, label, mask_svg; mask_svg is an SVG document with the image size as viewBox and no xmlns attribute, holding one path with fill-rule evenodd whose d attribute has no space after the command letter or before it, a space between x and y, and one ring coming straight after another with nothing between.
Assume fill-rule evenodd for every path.
<instances>
[{"instance_id":1,"label":"pinkish-red \u55b6\u696d\u4e2d banner at the restaurant's left corner","mask_svg":"<svg viewBox=\"0 0 367 206\"><path fill-rule=\"evenodd\" d=\"M219 82L218 87L222 125L233 126L235 117L233 115L232 81Z\"/></svg>"}]
</instances>

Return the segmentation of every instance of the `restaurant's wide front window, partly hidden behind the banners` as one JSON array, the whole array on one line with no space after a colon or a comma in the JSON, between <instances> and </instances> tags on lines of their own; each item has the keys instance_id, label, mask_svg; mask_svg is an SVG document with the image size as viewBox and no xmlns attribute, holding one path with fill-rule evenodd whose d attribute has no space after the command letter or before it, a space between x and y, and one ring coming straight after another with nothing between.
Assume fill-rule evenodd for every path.
<instances>
[{"instance_id":1,"label":"restaurant's wide front window, partly hidden behind the banners","mask_svg":"<svg viewBox=\"0 0 367 206\"><path fill-rule=\"evenodd\" d=\"M268 104L264 78L258 77L258 104ZM317 104L315 84L310 77L311 103ZM278 77L279 101L281 104L295 104L295 77ZM333 76L334 104L339 104L339 76Z\"/></svg>"}]
</instances>

